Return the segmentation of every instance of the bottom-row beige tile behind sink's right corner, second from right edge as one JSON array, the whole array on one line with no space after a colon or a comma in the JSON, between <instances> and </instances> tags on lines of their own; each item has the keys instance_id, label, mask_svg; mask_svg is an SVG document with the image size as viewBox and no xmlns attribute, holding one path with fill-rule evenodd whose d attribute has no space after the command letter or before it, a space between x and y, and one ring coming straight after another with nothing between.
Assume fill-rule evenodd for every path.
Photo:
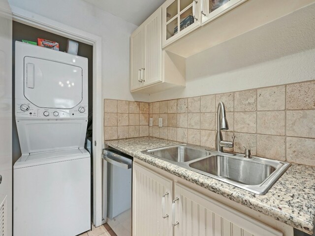
<instances>
[{"instance_id":1,"label":"bottom-row beige tile behind sink's right corner, second from right edge","mask_svg":"<svg viewBox=\"0 0 315 236\"><path fill-rule=\"evenodd\" d=\"M258 134L257 156L285 161L285 137Z\"/></svg>"}]
</instances>

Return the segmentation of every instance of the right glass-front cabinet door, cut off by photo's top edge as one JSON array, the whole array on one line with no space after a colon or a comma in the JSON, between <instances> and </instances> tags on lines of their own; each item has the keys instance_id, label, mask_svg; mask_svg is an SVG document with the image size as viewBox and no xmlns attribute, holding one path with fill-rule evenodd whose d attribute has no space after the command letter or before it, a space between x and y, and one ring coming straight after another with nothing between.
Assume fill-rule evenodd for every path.
<instances>
[{"instance_id":1,"label":"right glass-front cabinet door, cut off by photo's top edge","mask_svg":"<svg viewBox=\"0 0 315 236\"><path fill-rule=\"evenodd\" d=\"M206 24L246 0L200 0L201 23Z\"/></svg>"}]
</instances>

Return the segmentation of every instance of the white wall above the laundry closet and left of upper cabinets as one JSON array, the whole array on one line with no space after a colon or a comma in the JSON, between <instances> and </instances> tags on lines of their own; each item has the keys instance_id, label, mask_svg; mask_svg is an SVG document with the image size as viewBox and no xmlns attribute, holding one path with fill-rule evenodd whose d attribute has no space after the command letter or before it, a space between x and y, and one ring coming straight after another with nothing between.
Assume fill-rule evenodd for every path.
<instances>
[{"instance_id":1,"label":"white wall above the laundry closet and left of upper cabinets","mask_svg":"<svg viewBox=\"0 0 315 236\"><path fill-rule=\"evenodd\" d=\"M148 101L129 90L129 37L137 26L83 0L9 0L10 5L102 37L102 97Z\"/></svg>"}]
</instances>

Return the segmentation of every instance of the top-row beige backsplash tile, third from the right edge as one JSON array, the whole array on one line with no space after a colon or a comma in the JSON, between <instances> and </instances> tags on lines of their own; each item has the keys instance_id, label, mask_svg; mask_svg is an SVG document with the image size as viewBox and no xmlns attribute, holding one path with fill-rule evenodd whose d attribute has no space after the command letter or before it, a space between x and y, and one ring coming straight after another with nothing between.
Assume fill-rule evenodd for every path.
<instances>
[{"instance_id":1,"label":"top-row beige backsplash tile, third from the right edge","mask_svg":"<svg viewBox=\"0 0 315 236\"><path fill-rule=\"evenodd\" d=\"M257 90L237 91L234 93L234 111L248 112L256 111L257 107Z\"/></svg>"}]
</instances>

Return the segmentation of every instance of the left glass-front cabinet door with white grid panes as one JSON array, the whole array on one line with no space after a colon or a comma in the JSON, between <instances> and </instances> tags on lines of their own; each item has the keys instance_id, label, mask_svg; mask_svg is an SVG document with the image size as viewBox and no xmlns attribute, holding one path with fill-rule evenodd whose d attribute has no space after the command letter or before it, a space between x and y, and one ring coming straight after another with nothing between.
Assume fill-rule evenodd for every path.
<instances>
[{"instance_id":1,"label":"left glass-front cabinet door with white grid panes","mask_svg":"<svg viewBox=\"0 0 315 236\"><path fill-rule=\"evenodd\" d=\"M166 0L162 5L162 44L167 46L201 26L200 0Z\"/></svg>"}]
</instances>

